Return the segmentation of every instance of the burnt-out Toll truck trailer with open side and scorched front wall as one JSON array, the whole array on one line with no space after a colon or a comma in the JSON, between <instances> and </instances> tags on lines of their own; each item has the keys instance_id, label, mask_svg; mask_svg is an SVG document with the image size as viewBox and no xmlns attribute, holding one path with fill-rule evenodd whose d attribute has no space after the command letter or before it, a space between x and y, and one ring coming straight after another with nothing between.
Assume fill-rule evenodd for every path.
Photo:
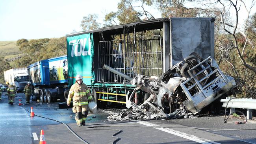
<instances>
[{"instance_id":1,"label":"burnt-out Toll truck trailer with open side and scorched front wall","mask_svg":"<svg viewBox=\"0 0 256 144\"><path fill-rule=\"evenodd\" d=\"M214 58L214 21L214 18L158 18L67 35L69 86L80 74L99 105L128 104L137 87L130 78L138 75L160 78L192 52L202 59ZM104 69L104 65L129 78ZM149 90L137 90L132 101L143 103L150 94ZM169 110L173 111L170 97L167 99Z\"/></svg>"}]
</instances>

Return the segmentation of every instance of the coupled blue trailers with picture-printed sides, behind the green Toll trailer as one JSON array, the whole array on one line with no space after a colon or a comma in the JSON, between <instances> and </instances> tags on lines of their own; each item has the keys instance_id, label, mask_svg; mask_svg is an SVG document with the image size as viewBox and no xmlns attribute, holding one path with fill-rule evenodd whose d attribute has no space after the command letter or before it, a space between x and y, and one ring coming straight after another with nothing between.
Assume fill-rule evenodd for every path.
<instances>
[{"instance_id":1,"label":"coupled blue trailers with picture-printed sides, behind the green Toll trailer","mask_svg":"<svg viewBox=\"0 0 256 144\"><path fill-rule=\"evenodd\" d=\"M34 88L32 100L41 102L64 101L67 88L67 55L41 60L28 66L28 74Z\"/></svg>"}]
</instances>

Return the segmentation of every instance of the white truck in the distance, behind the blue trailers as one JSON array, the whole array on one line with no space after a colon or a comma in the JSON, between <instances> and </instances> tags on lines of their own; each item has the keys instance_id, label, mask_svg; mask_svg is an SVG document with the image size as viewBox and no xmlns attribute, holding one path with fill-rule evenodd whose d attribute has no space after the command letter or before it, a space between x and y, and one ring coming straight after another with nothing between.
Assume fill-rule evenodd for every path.
<instances>
[{"instance_id":1,"label":"white truck in the distance, behind the blue trailers","mask_svg":"<svg viewBox=\"0 0 256 144\"><path fill-rule=\"evenodd\" d=\"M29 81L27 68L12 68L6 70L4 72L4 81L12 82L17 87L17 91L22 91Z\"/></svg>"}]
</instances>

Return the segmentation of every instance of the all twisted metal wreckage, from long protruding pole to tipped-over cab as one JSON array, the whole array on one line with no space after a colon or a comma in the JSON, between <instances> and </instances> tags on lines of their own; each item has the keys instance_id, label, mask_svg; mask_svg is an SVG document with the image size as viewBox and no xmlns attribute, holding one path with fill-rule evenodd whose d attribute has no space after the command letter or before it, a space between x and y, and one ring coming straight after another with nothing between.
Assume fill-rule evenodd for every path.
<instances>
[{"instance_id":1,"label":"all twisted metal wreckage, from long protruding pole to tipped-over cab","mask_svg":"<svg viewBox=\"0 0 256 144\"><path fill-rule=\"evenodd\" d=\"M234 78L224 75L211 56L202 59L196 53L184 58L184 61L174 65L160 78L156 76L148 78L143 75L131 78L107 65L104 65L103 68L136 85L130 98L126 100L126 107L133 107L133 109L147 114L148 116L144 118L150 118L150 116L153 118L152 114L155 114L152 113L152 109L151 113L145 111L149 107L148 105L166 118L180 118L185 114L197 114L224 94L225 96L230 95L230 90L236 87ZM148 97L141 105L134 102L137 90L148 93ZM140 116L140 118L142 117ZM126 116L126 120L128 118Z\"/></svg>"}]
</instances>

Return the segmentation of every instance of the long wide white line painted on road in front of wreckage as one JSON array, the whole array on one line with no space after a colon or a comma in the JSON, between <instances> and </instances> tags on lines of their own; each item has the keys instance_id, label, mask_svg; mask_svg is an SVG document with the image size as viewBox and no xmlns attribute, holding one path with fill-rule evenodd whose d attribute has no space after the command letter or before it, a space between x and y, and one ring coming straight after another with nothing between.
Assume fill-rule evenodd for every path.
<instances>
[{"instance_id":1,"label":"long wide white line painted on road in front of wreckage","mask_svg":"<svg viewBox=\"0 0 256 144\"><path fill-rule=\"evenodd\" d=\"M217 143L217 142L214 142L214 141L211 141L211 140L207 140L207 139L204 139L204 138L200 138L200 137L197 137L197 136L193 136L193 135L189 135L187 133L183 133L183 132L180 132L180 131L176 131L174 129L170 129L170 128L167 128L167 127L159 127L158 125L156 124L152 124L152 123L149 123L149 122L145 122L145 121L139 121L137 122L139 124L143 124L145 126L151 126L153 127L154 129L158 129L160 131L165 131L167 133L171 133L173 135L176 135L176 136L179 136L179 137L183 137L183 138L186 138L188 140L192 140L192 141L195 141L195 142L198 142L198 143L201 143L201 144L213 144L213 143ZM154 127L155 126L155 127ZM213 143L209 143L209 142L213 142ZM218 143L220 144L220 143Z\"/></svg>"}]
</instances>

